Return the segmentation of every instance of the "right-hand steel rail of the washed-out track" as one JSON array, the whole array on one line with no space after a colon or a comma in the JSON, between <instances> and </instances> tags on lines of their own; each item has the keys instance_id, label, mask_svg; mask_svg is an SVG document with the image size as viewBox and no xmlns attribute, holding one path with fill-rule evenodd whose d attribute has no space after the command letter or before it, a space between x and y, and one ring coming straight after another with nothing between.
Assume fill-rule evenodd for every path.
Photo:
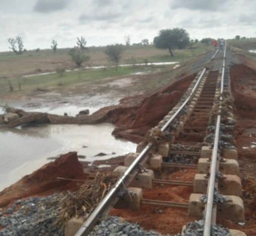
<instances>
[{"instance_id":1,"label":"right-hand steel rail of the washed-out track","mask_svg":"<svg viewBox=\"0 0 256 236\"><path fill-rule=\"evenodd\" d=\"M223 66L222 66L222 75L221 75L221 90L220 90L220 100L222 101L222 95L224 90L224 74L225 74L225 59L226 59L226 42L224 48L223 55ZM204 233L203 236L211 236L212 223L216 224L216 218L213 218L214 214L214 189L216 186L216 173L219 170L218 166L218 149L219 149L219 134L220 134L220 123L221 123L221 115L217 116L216 128L215 128L215 138L214 138L214 146L211 155L211 166L210 166L210 177L208 181L208 189L207 189L207 203L205 207L205 225L204 225ZM216 211L216 207L215 207ZM215 212L216 213L216 212ZM216 214L214 214L216 217Z\"/></svg>"}]
</instances>

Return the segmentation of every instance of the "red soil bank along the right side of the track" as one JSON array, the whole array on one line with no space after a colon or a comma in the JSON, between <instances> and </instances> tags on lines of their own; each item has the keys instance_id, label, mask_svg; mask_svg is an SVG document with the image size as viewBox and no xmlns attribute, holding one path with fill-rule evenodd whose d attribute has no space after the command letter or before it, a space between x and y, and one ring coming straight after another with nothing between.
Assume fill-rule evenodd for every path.
<instances>
[{"instance_id":1,"label":"red soil bank along the right side of the track","mask_svg":"<svg viewBox=\"0 0 256 236\"><path fill-rule=\"evenodd\" d=\"M231 88L237 120L235 138L244 190L246 223L244 226L229 220L221 223L252 236L256 235L256 148L251 146L256 144L256 66L255 62L245 62L246 65L238 64L231 68Z\"/></svg>"}]
</instances>

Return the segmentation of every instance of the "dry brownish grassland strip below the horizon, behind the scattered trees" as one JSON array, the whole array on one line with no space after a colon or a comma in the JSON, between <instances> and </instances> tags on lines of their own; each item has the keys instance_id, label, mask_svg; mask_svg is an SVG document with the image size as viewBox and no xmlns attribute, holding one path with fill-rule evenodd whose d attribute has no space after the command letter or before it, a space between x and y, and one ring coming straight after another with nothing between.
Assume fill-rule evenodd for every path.
<instances>
[{"instance_id":1,"label":"dry brownish grassland strip below the horizon, behind the scattered trees","mask_svg":"<svg viewBox=\"0 0 256 236\"><path fill-rule=\"evenodd\" d=\"M153 45L128 46L125 47L120 63L140 63L147 59L149 62L179 61L197 56L210 49L210 46L198 43L192 49L174 50L174 57L171 57L168 50L156 49ZM24 74L55 71L58 65L67 69L75 68L69 55L70 49L58 49L54 53L50 49L27 51L21 55L13 52L0 53L0 78L17 77ZM90 60L85 66L110 65L104 53L105 47L90 47L87 51Z\"/></svg>"}]
</instances>

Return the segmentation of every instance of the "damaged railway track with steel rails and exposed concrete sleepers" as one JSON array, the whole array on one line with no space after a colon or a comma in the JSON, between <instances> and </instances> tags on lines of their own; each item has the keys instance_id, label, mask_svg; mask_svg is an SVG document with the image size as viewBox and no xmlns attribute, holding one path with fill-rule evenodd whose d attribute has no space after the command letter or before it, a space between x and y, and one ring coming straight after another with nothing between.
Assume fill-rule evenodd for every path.
<instances>
[{"instance_id":1,"label":"damaged railway track with steel rails and exposed concrete sleepers","mask_svg":"<svg viewBox=\"0 0 256 236\"><path fill-rule=\"evenodd\" d=\"M151 130L148 140L138 145L137 153L126 156L124 166L115 169L114 173L120 178L76 236L87 235L98 218L116 204L132 209L145 204L187 208L188 215L199 221L190 222L180 229L184 235L189 230L198 230L201 234L195 235L204 236L244 235L232 230L229 231L231 234L214 234L228 231L217 225L219 218L244 221L237 154L232 143L233 117L225 65L226 46L223 54L222 67L215 70L203 68L179 103ZM166 178L168 170L172 173L182 168L197 170L194 182ZM167 170L165 176L159 172L163 169ZM189 200L172 202L143 198L143 189L154 187L157 195L165 185L189 187ZM135 191L132 197L127 186L137 187L131 190Z\"/></svg>"}]
</instances>

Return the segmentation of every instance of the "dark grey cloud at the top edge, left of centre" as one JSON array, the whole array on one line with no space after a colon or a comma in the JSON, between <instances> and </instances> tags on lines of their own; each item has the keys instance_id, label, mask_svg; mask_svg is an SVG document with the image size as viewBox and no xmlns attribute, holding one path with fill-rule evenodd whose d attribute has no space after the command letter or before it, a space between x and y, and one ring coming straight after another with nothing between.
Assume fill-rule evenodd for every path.
<instances>
[{"instance_id":1,"label":"dark grey cloud at the top edge, left of centre","mask_svg":"<svg viewBox=\"0 0 256 236\"><path fill-rule=\"evenodd\" d=\"M34 11L40 13L49 13L65 9L70 0L37 0Z\"/></svg>"}]
</instances>

